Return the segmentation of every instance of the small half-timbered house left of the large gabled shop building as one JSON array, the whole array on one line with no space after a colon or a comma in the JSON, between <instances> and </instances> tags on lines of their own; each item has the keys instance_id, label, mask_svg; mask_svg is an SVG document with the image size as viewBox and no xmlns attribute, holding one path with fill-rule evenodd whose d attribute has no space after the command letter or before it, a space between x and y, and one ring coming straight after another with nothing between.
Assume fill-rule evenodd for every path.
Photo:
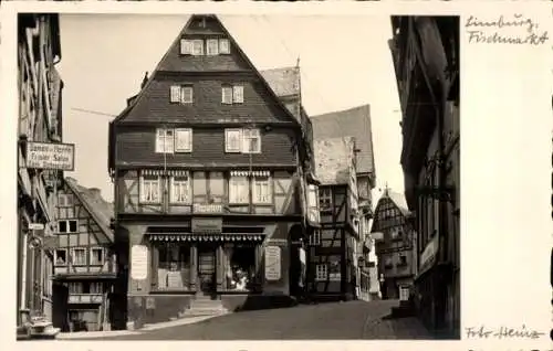
<instances>
[{"instance_id":1,"label":"small half-timbered house left of the large gabled shop building","mask_svg":"<svg viewBox=\"0 0 553 351\"><path fill-rule=\"evenodd\" d=\"M66 178L56 211L54 326L63 331L109 330L116 278L113 204L98 189Z\"/></svg>"}]
</instances>

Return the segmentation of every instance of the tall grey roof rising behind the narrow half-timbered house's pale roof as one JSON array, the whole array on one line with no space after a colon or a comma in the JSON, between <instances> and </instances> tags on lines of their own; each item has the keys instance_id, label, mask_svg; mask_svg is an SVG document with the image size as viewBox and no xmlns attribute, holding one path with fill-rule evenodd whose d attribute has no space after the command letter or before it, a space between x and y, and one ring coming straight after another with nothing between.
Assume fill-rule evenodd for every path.
<instances>
[{"instance_id":1,"label":"tall grey roof rising behind the narrow half-timbered house's pale roof","mask_svg":"<svg viewBox=\"0 0 553 351\"><path fill-rule=\"evenodd\" d=\"M357 172L375 174L371 106L363 105L346 110L313 116L315 140L336 137L354 137L357 155Z\"/></svg>"}]
</instances>

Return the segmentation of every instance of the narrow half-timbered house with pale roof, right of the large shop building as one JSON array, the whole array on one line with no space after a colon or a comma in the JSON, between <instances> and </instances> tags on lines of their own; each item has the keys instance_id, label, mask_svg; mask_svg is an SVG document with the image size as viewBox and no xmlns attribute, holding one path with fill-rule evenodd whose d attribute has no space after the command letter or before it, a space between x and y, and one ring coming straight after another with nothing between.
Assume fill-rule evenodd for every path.
<instances>
[{"instance_id":1,"label":"narrow half-timbered house with pale roof, right of the large shop building","mask_svg":"<svg viewBox=\"0 0 553 351\"><path fill-rule=\"evenodd\" d=\"M352 137L314 142L321 228L309 241L307 286L315 300L356 296L359 212Z\"/></svg>"}]
</instances>

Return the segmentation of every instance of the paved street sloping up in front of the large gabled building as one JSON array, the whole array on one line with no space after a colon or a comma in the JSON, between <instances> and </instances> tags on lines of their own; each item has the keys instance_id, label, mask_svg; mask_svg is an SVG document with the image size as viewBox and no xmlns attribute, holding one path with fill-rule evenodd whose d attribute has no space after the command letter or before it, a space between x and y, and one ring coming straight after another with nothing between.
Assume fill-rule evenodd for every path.
<instances>
[{"instance_id":1,"label":"paved street sloping up in front of the large gabled building","mask_svg":"<svg viewBox=\"0 0 553 351\"><path fill-rule=\"evenodd\" d=\"M349 301L247 311L102 340L432 339L416 318L385 318L396 305Z\"/></svg>"}]
</instances>

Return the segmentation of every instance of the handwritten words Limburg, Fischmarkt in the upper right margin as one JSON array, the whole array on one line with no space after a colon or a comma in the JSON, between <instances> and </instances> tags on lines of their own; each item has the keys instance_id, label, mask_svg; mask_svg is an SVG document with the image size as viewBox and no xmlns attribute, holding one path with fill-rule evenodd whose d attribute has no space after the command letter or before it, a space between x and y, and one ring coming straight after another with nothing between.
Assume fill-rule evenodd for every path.
<instances>
[{"instance_id":1,"label":"handwritten words Limburg, Fischmarkt in the upper right margin","mask_svg":"<svg viewBox=\"0 0 553 351\"><path fill-rule=\"evenodd\" d=\"M549 41L547 31L540 31L539 23L523 14L499 15L492 20L481 20L470 15L465 23L469 43L542 45ZM509 33L505 33L509 31ZM514 33L513 33L514 31ZM520 33L515 33L520 31Z\"/></svg>"}]
</instances>

